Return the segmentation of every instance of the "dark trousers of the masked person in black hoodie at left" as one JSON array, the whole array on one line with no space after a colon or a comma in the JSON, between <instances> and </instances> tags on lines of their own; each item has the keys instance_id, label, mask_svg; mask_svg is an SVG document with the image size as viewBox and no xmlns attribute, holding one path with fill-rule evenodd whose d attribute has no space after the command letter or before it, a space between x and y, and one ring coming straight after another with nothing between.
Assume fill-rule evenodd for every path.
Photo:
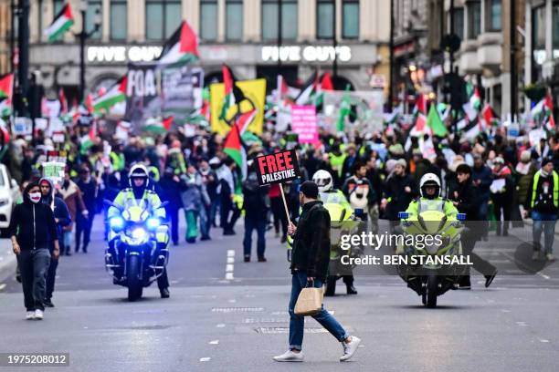
<instances>
[{"instance_id":1,"label":"dark trousers of the masked person in black hoodie at left","mask_svg":"<svg viewBox=\"0 0 559 372\"><path fill-rule=\"evenodd\" d=\"M47 248L21 251L17 255L27 311L45 310L46 277L50 264Z\"/></svg>"}]
</instances>

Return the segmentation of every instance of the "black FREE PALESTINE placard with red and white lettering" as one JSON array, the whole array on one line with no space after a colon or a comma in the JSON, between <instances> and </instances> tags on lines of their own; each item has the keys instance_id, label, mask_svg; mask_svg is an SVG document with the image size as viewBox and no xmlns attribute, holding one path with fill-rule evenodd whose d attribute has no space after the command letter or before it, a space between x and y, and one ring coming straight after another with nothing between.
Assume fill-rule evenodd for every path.
<instances>
[{"instance_id":1,"label":"black FREE PALESTINE placard with red and white lettering","mask_svg":"<svg viewBox=\"0 0 559 372\"><path fill-rule=\"evenodd\" d=\"M255 161L260 186L293 181L300 175L295 150L259 156Z\"/></svg>"}]
</instances>

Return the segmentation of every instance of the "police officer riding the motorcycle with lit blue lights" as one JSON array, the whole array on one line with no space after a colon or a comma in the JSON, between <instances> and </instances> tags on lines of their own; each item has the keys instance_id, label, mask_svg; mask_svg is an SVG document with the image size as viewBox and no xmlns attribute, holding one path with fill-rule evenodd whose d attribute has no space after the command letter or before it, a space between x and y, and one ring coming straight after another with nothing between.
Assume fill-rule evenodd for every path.
<instances>
[{"instance_id":1,"label":"police officer riding the motorcycle with lit blue lights","mask_svg":"<svg viewBox=\"0 0 559 372\"><path fill-rule=\"evenodd\" d=\"M149 187L150 176L145 165L133 165L128 173L128 179L130 187L120 191L112 203L116 206L124 207L130 201L134 201L139 205L145 202L153 209L155 217L164 221L166 217L165 209L158 208L161 205L161 200L157 193ZM109 218L114 213L118 213L118 210L111 207L109 209ZM159 249L165 249L167 243L158 241L157 244ZM159 287L161 298L169 298L169 279L167 278L166 268L163 269L163 274L157 278L157 286Z\"/></svg>"}]
</instances>

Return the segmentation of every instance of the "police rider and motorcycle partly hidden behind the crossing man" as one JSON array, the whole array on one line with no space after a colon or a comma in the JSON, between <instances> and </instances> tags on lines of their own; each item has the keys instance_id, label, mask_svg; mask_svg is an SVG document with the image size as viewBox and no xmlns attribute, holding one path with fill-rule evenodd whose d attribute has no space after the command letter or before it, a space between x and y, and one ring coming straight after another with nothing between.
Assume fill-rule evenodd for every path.
<instances>
[{"instance_id":1,"label":"police rider and motorcycle partly hidden behind the crossing man","mask_svg":"<svg viewBox=\"0 0 559 372\"><path fill-rule=\"evenodd\" d=\"M340 190L334 190L332 175L328 171L316 171L312 176L319 187L320 200L323 202L324 208L330 214L330 264L328 267L328 275L325 282L324 293L333 295L335 293L336 282L342 277L341 274L352 274L354 264L345 265L342 263L342 257L358 257L363 255L363 247L352 247L343 250L340 244L342 235L356 233L362 222L363 210L353 210L350 203L347 202L345 195ZM288 261L291 261L291 252L293 239L288 236Z\"/></svg>"}]
</instances>

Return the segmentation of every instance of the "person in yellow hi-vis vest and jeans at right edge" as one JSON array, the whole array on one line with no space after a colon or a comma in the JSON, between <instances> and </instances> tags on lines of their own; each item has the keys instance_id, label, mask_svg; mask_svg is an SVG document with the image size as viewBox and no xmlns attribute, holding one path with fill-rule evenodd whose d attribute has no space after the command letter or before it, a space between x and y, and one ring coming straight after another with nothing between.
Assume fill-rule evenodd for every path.
<instances>
[{"instance_id":1,"label":"person in yellow hi-vis vest and jeans at right edge","mask_svg":"<svg viewBox=\"0 0 559 372\"><path fill-rule=\"evenodd\" d=\"M526 196L526 209L533 219L533 260L540 258L543 232L545 258L554 261L554 234L557 212L559 212L559 175L554 171L551 158L542 160L542 169L533 175L531 187Z\"/></svg>"}]
</instances>

